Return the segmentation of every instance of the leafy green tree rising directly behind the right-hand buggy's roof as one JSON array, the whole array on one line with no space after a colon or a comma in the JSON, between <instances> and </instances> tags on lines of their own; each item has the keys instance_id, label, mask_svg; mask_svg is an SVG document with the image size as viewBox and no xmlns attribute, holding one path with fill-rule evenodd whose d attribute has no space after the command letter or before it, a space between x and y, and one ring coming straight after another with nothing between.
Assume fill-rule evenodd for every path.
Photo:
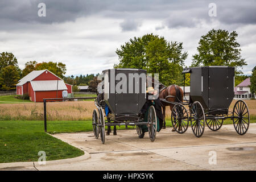
<instances>
[{"instance_id":1,"label":"leafy green tree rising directly behind the right-hand buggy's roof","mask_svg":"<svg viewBox=\"0 0 256 182\"><path fill-rule=\"evenodd\" d=\"M236 68L236 75L241 74L238 68L247 65L245 59L241 58L240 44L237 42L236 31L210 30L201 36L198 53L193 55L192 67L225 65Z\"/></svg>"}]
</instances>

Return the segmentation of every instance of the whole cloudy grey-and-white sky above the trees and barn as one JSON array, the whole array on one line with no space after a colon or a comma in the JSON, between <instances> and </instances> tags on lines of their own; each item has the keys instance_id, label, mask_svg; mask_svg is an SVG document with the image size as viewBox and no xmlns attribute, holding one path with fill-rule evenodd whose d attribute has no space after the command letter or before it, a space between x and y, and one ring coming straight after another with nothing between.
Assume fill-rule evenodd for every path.
<instances>
[{"instance_id":1,"label":"whole cloudy grey-and-white sky above the trees and barn","mask_svg":"<svg viewBox=\"0 0 256 182\"><path fill-rule=\"evenodd\" d=\"M45 3L46 16L38 16ZM209 16L209 3L217 16ZM118 63L115 50L134 36L153 33L183 42L186 65L200 37L212 28L237 31L250 74L256 65L256 1L1 0L0 52L27 61L61 61L66 75L99 73Z\"/></svg>"}]
</instances>

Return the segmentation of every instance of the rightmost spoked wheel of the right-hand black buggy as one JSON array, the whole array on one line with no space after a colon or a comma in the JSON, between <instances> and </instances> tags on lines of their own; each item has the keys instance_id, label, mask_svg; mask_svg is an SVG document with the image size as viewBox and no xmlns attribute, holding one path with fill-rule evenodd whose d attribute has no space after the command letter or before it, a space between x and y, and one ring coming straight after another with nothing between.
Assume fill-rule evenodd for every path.
<instances>
[{"instance_id":1,"label":"rightmost spoked wheel of the right-hand black buggy","mask_svg":"<svg viewBox=\"0 0 256 182\"><path fill-rule=\"evenodd\" d=\"M245 102L239 100L233 108L233 125L237 133L246 134L250 125L250 114Z\"/></svg>"}]
</instances>

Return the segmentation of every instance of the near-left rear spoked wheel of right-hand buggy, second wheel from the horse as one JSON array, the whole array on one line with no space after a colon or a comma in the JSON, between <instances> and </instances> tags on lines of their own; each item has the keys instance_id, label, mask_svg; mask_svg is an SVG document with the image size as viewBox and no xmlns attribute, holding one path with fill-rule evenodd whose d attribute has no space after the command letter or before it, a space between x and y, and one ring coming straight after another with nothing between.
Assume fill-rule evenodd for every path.
<instances>
[{"instance_id":1,"label":"near-left rear spoked wheel of right-hand buggy, second wheel from the horse","mask_svg":"<svg viewBox=\"0 0 256 182\"><path fill-rule=\"evenodd\" d=\"M190 111L191 128L196 137L201 137L204 133L205 115L203 106L200 102L195 101Z\"/></svg>"}]
</instances>

